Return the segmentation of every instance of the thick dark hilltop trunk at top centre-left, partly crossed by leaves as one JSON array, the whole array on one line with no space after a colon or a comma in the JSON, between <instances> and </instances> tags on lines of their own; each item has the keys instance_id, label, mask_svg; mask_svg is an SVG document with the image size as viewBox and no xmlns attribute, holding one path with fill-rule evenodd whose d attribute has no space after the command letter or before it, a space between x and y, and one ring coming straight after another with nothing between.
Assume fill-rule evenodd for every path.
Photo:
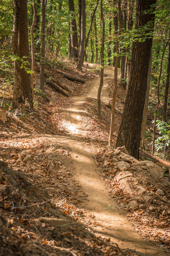
<instances>
[{"instance_id":1,"label":"thick dark hilltop trunk at top centre-left, partly crossed by leaves","mask_svg":"<svg viewBox=\"0 0 170 256\"><path fill-rule=\"evenodd\" d=\"M69 11L74 12L74 0L69 0L68 6L69 6ZM70 52L69 56L71 58L78 58L77 24L76 24L76 19L74 19L74 18L72 20L70 20L70 30L72 33L70 34L71 47L69 47L69 48L71 49L71 52Z\"/></svg>"}]
</instances>

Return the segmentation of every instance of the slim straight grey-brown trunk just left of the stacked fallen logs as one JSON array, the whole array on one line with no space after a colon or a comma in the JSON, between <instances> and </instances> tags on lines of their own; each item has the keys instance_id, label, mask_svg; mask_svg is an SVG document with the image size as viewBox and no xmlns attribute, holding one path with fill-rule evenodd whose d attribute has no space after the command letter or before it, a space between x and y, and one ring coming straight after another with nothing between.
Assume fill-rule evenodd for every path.
<instances>
[{"instance_id":1,"label":"slim straight grey-brown trunk just left of the stacked fallen logs","mask_svg":"<svg viewBox=\"0 0 170 256\"><path fill-rule=\"evenodd\" d=\"M40 89L45 92L44 66L45 66L45 0L41 2L42 23L41 23L41 63L40 63Z\"/></svg>"}]
</instances>

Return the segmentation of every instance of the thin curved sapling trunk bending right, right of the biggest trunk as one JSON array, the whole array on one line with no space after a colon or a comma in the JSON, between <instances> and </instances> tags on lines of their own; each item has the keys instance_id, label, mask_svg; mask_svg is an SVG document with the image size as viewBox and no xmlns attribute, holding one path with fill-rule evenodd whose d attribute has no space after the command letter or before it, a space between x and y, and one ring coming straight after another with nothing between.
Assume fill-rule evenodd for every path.
<instances>
[{"instance_id":1,"label":"thin curved sapling trunk bending right, right of the biggest trunk","mask_svg":"<svg viewBox=\"0 0 170 256\"><path fill-rule=\"evenodd\" d=\"M168 39L164 50L162 52L162 58L161 58L161 66L160 66L160 72L159 72L159 79L158 79L158 83L157 83L157 105L156 105L156 111L155 111L155 118L154 118L154 123L153 123L153 141L152 141L152 155L154 155L154 151L155 151L155 131L156 131L156 118L157 118L157 113L158 113L158 109L159 109L159 104L160 104L160 99L159 99L159 85L160 85L160 80L161 80L161 73L162 73L162 64L163 64L163 58L164 58L164 52L165 49L167 48L167 45L169 44L170 39Z\"/></svg>"}]
</instances>

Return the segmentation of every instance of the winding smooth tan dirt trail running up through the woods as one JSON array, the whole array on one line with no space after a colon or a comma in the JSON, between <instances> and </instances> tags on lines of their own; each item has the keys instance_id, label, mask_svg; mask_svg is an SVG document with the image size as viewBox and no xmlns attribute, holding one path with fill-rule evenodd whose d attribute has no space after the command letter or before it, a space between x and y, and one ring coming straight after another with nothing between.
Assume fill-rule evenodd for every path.
<instances>
[{"instance_id":1,"label":"winding smooth tan dirt trail running up through the woods","mask_svg":"<svg viewBox=\"0 0 170 256\"><path fill-rule=\"evenodd\" d=\"M108 90L105 81L108 81L108 79L111 82L113 81L114 68L106 66L105 74L110 77L104 77L101 95L101 99L104 102L108 100ZM63 147L69 150L74 160L74 179L81 188L81 192L77 196L82 197L82 202L79 206L88 212L86 216L88 221L96 221L99 224L95 227L96 234L110 237L111 241L117 243L122 249L127 247L133 250L136 249L142 256L168 255L150 242L144 241L133 230L127 217L123 215L119 205L113 202L105 188L100 169L96 165L90 150L77 140L77 138L85 137L87 134L87 123L83 122L83 115L86 111L82 104L87 98L96 99L99 82L100 79L90 82L85 93L82 96L73 97L73 105L63 111L65 118L63 126L68 132L69 137L55 135L48 137L62 143ZM87 198L83 198L83 195L87 195Z\"/></svg>"}]
</instances>

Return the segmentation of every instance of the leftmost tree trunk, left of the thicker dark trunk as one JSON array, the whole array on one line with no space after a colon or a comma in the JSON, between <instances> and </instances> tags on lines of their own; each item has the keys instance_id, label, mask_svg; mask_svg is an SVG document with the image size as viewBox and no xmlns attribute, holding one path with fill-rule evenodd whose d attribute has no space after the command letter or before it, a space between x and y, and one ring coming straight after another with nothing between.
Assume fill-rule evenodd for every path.
<instances>
[{"instance_id":1,"label":"leftmost tree trunk, left of the thicker dark trunk","mask_svg":"<svg viewBox=\"0 0 170 256\"><path fill-rule=\"evenodd\" d=\"M13 54L18 56L18 30L19 30L19 17L20 17L20 3L19 0L13 0L14 5L14 23L12 33L12 48ZM12 108L18 108L20 91L20 64L18 60L14 61L14 92L12 98Z\"/></svg>"}]
</instances>

